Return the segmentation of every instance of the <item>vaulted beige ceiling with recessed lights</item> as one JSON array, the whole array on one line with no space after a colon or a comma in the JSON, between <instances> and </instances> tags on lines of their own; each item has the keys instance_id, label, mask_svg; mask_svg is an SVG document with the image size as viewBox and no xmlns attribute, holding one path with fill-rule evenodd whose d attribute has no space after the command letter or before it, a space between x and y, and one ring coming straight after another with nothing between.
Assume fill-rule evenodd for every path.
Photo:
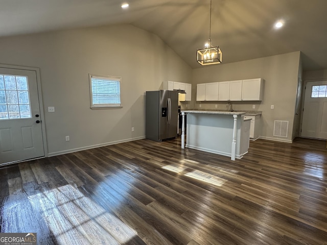
<instances>
[{"instance_id":1,"label":"vaulted beige ceiling with recessed lights","mask_svg":"<svg viewBox=\"0 0 327 245\"><path fill-rule=\"evenodd\" d=\"M0 36L130 23L158 35L191 67L209 37L210 0L0 0ZM326 0L212 0L211 38L223 63L303 53L327 69ZM278 19L285 27L273 28Z\"/></svg>"}]
</instances>

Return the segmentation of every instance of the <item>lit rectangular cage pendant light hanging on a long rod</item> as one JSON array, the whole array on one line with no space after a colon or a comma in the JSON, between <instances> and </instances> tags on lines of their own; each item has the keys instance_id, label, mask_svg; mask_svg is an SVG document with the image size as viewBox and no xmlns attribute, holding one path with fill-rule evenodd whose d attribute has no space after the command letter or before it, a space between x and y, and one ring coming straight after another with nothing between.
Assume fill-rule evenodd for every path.
<instances>
[{"instance_id":1,"label":"lit rectangular cage pendant light hanging on a long rod","mask_svg":"<svg viewBox=\"0 0 327 245\"><path fill-rule=\"evenodd\" d=\"M222 53L219 46L214 47L211 42L211 6L212 0L210 0L209 40L205 44L205 48L197 50L197 61L201 65L220 64L222 62Z\"/></svg>"}]
</instances>

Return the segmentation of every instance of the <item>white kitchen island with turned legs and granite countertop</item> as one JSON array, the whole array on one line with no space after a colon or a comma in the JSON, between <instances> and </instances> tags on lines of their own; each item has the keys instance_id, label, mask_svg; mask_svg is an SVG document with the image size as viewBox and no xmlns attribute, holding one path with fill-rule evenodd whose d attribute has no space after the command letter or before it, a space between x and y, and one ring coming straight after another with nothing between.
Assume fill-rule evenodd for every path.
<instances>
[{"instance_id":1,"label":"white kitchen island with turned legs and granite countertop","mask_svg":"<svg viewBox=\"0 0 327 245\"><path fill-rule=\"evenodd\" d=\"M242 158L248 152L250 119L245 112L214 110L182 110L181 148L230 156L231 160ZM186 125L186 145L184 115Z\"/></svg>"}]
</instances>

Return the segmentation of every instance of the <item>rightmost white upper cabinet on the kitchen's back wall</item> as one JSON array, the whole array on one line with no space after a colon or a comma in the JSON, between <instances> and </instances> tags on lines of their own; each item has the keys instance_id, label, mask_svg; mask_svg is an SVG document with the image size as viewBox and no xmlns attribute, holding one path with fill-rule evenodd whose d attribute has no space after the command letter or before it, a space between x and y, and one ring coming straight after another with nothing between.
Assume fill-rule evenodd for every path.
<instances>
[{"instance_id":1,"label":"rightmost white upper cabinet on the kitchen's back wall","mask_svg":"<svg viewBox=\"0 0 327 245\"><path fill-rule=\"evenodd\" d=\"M262 78L247 79L242 82L242 101L262 101L264 80Z\"/></svg>"}]
</instances>

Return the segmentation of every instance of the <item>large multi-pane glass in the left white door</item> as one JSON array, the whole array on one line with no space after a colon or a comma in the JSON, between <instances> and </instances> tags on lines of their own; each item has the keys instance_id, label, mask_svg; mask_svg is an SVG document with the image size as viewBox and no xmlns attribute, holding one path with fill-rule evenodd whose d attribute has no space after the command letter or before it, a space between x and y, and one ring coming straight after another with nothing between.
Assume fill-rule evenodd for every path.
<instances>
[{"instance_id":1,"label":"large multi-pane glass in the left white door","mask_svg":"<svg viewBox=\"0 0 327 245\"><path fill-rule=\"evenodd\" d=\"M0 120L31 117L27 77L0 74Z\"/></svg>"}]
</instances>

